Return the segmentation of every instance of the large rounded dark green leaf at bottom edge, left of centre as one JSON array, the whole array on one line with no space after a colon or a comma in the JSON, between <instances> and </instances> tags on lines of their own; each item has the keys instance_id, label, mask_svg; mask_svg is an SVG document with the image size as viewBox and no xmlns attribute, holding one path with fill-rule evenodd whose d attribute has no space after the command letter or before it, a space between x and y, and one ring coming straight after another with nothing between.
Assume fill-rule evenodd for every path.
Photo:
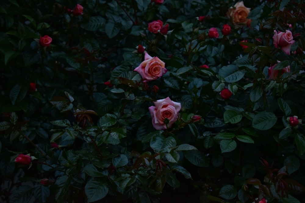
<instances>
[{"instance_id":1,"label":"large rounded dark green leaf at bottom edge, left of centre","mask_svg":"<svg viewBox=\"0 0 305 203\"><path fill-rule=\"evenodd\" d=\"M108 184L105 180L92 178L85 186L85 194L87 195L88 202L94 202L104 198L108 191Z\"/></svg>"}]
</instances>

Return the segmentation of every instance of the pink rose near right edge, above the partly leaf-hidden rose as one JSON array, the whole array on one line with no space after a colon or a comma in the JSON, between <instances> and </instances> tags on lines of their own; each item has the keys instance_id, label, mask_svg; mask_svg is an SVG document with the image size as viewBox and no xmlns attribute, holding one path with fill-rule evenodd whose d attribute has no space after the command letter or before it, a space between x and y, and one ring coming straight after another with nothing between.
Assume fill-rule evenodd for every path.
<instances>
[{"instance_id":1,"label":"pink rose near right edge, above the partly leaf-hidden rose","mask_svg":"<svg viewBox=\"0 0 305 203\"><path fill-rule=\"evenodd\" d=\"M294 43L292 33L290 30L286 30L285 33L280 31L276 33L276 30L274 30L274 35L272 38L275 48L281 47L282 51L290 55L290 48L291 45Z\"/></svg>"}]
</instances>

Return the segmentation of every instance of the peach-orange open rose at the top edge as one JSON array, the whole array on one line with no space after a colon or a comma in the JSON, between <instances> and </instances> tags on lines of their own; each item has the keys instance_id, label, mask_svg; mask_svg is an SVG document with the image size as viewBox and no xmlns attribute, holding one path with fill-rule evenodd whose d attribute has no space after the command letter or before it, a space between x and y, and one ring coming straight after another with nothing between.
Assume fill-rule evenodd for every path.
<instances>
[{"instance_id":1,"label":"peach-orange open rose at the top edge","mask_svg":"<svg viewBox=\"0 0 305 203\"><path fill-rule=\"evenodd\" d=\"M248 19L248 14L250 12L250 8L247 8L244 5L244 2L237 2L234 5L235 8L229 8L227 15L233 19L233 23L235 25L246 24Z\"/></svg>"}]
</instances>

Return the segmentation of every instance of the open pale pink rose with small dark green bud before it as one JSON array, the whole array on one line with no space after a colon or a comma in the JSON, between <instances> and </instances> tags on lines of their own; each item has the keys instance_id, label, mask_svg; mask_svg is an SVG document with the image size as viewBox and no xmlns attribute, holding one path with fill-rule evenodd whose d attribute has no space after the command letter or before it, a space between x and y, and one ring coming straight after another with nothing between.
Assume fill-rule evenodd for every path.
<instances>
[{"instance_id":1,"label":"open pale pink rose with small dark green bud before it","mask_svg":"<svg viewBox=\"0 0 305 203\"><path fill-rule=\"evenodd\" d=\"M152 125L156 130L165 130L170 128L178 119L178 112L181 109L181 103L170 100L169 97L153 102L155 106L149 107L152 117ZM164 124L164 119L168 119L168 124Z\"/></svg>"}]
</instances>

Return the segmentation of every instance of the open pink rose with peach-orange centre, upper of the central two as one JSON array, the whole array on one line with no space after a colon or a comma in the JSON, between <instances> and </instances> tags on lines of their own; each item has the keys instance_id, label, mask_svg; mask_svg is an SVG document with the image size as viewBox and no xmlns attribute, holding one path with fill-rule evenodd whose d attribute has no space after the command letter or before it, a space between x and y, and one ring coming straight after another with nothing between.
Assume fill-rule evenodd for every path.
<instances>
[{"instance_id":1,"label":"open pink rose with peach-orange centre, upper of the central two","mask_svg":"<svg viewBox=\"0 0 305 203\"><path fill-rule=\"evenodd\" d=\"M144 61L134 71L137 71L142 78L146 79L144 82L147 82L156 80L165 74L167 69L164 66L165 63L158 57L151 57L145 52Z\"/></svg>"}]
</instances>

